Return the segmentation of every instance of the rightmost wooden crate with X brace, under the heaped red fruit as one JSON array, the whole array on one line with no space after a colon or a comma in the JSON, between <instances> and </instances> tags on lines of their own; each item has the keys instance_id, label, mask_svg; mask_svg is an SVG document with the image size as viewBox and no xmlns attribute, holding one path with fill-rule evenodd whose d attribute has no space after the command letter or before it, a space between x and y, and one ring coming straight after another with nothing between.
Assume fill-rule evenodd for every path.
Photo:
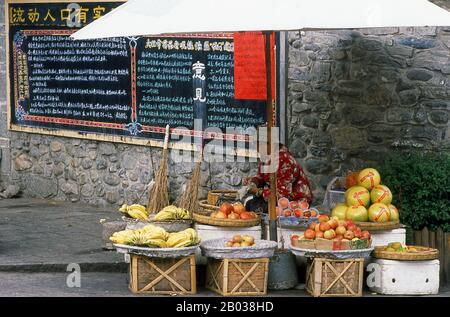
<instances>
[{"instance_id":1,"label":"rightmost wooden crate with X brace, under the heaped red fruit","mask_svg":"<svg viewBox=\"0 0 450 317\"><path fill-rule=\"evenodd\" d=\"M314 297L360 297L364 259L308 260L306 290Z\"/></svg>"}]
</instances>

